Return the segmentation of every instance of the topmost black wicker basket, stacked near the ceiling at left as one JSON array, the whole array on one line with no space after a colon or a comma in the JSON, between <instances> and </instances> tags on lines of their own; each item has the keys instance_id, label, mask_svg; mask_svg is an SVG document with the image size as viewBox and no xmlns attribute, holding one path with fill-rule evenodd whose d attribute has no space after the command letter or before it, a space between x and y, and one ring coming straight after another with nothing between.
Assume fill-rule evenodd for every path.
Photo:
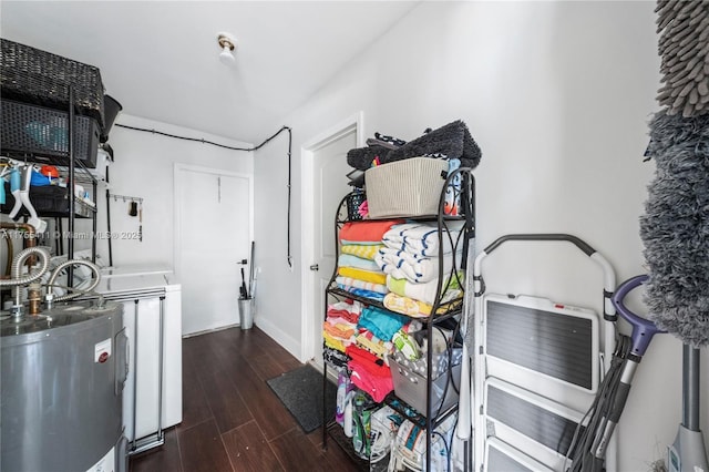
<instances>
[{"instance_id":1,"label":"topmost black wicker basket, stacked near the ceiling at left","mask_svg":"<svg viewBox=\"0 0 709 472\"><path fill-rule=\"evenodd\" d=\"M69 86L79 113L104 124L104 88L99 68L0 39L2 98L69 110Z\"/></svg>"}]
</instances>

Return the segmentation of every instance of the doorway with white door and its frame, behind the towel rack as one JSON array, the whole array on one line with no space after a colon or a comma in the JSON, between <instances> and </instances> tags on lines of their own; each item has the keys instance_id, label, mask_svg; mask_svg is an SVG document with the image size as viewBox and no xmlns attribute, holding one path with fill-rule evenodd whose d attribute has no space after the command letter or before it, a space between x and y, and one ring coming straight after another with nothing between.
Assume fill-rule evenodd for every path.
<instances>
[{"instance_id":1,"label":"doorway with white door and its frame, behind the towel rack","mask_svg":"<svg viewBox=\"0 0 709 472\"><path fill-rule=\"evenodd\" d=\"M301 361L322 365L325 288L335 270L335 213L351 191L347 152L363 146L362 113L310 140L302 147L302 331ZM311 235L308 237L307 235Z\"/></svg>"}]
</instances>

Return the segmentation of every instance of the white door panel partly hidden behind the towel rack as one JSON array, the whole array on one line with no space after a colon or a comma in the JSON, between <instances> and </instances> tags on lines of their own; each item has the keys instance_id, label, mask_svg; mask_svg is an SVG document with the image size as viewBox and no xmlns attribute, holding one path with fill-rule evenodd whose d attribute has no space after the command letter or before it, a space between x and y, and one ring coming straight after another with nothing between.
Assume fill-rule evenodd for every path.
<instances>
[{"instance_id":1,"label":"white door panel partly hidden behind the towel rack","mask_svg":"<svg viewBox=\"0 0 709 472\"><path fill-rule=\"evenodd\" d=\"M357 147L357 129L330 141L322 147L315 150L314 157L314 248L315 257L311 264L315 271L312 284L312 357L318 365L322 363L322 320L325 319L325 289L337 264L335 214L342 197L352 188L347 185L347 174L352 171L347 164L347 152Z\"/></svg>"}]
</instances>

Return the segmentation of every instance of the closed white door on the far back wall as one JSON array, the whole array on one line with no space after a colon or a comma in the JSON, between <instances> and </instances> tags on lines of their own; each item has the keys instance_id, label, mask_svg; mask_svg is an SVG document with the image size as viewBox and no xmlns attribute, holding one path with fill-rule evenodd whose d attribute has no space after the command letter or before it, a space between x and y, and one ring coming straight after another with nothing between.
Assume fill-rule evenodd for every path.
<instances>
[{"instance_id":1,"label":"closed white door on the far back wall","mask_svg":"<svg viewBox=\"0 0 709 472\"><path fill-rule=\"evenodd\" d=\"M176 269L183 294L183 335L239 322L240 269L248 285L251 177L176 166ZM250 260L248 260L250 264Z\"/></svg>"}]
</instances>

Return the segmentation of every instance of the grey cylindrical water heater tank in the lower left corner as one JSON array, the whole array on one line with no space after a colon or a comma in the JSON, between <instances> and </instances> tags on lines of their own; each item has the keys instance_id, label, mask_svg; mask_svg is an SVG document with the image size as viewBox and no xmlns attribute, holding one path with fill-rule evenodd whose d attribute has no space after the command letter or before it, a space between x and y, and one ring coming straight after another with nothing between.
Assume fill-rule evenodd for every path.
<instances>
[{"instance_id":1,"label":"grey cylindrical water heater tank in the lower left corner","mask_svg":"<svg viewBox=\"0 0 709 472\"><path fill-rule=\"evenodd\" d=\"M126 470L122 310L74 302L0 320L0 470Z\"/></svg>"}]
</instances>

